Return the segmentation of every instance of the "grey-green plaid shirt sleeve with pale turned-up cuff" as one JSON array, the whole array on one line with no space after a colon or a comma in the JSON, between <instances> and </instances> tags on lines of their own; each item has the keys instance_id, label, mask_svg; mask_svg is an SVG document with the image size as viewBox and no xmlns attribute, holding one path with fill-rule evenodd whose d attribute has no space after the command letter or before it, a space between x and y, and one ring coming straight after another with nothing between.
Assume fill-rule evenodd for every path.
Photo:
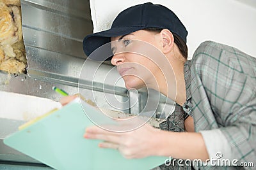
<instances>
[{"instance_id":1,"label":"grey-green plaid shirt sleeve with pale turned-up cuff","mask_svg":"<svg viewBox=\"0 0 256 170\"><path fill-rule=\"evenodd\" d=\"M256 166L255 85L255 58L211 41L196 50L191 62L195 131L210 158L221 153L222 159Z\"/></svg>"}]
</instances>

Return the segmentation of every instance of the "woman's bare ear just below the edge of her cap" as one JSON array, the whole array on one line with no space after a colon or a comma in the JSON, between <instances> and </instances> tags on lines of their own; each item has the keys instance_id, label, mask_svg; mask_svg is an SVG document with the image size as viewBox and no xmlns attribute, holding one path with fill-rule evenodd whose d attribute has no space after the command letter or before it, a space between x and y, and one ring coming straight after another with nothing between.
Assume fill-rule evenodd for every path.
<instances>
[{"instance_id":1,"label":"woman's bare ear just below the edge of her cap","mask_svg":"<svg viewBox=\"0 0 256 170\"><path fill-rule=\"evenodd\" d=\"M174 38L173 38L172 32L169 31L168 29L163 29L160 32L160 36L161 36L161 43L163 48L162 52L163 53L171 52L174 45Z\"/></svg>"}]
</instances>

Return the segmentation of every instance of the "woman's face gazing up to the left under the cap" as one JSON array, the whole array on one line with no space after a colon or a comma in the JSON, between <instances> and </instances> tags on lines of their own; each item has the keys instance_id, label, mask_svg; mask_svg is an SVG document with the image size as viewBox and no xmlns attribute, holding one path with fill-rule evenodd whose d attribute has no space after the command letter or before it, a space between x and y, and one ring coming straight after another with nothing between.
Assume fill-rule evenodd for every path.
<instances>
[{"instance_id":1,"label":"woman's face gazing up to the left under the cap","mask_svg":"<svg viewBox=\"0 0 256 170\"><path fill-rule=\"evenodd\" d=\"M113 58L111 63L125 81L127 89L154 86L161 74L154 57L161 53L159 34L150 31L136 31L111 38Z\"/></svg>"}]
</instances>

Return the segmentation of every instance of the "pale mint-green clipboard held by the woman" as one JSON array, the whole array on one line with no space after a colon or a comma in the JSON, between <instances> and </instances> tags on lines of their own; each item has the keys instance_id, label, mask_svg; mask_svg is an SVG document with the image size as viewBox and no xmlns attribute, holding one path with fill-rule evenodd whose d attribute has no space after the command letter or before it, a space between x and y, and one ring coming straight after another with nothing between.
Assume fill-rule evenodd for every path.
<instances>
[{"instance_id":1,"label":"pale mint-green clipboard held by the woman","mask_svg":"<svg viewBox=\"0 0 256 170\"><path fill-rule=\"evenodd\" d=\"M164 164L166 157L125 159L117 150L99 148L99 140L84 139L84 129L93 125L84 111L89 111L96 117L102 114L89 104L76 99L60 110L11 134L4 139L4 144L60 170L143 170ZM111 118L108 121L115 123Z\"/></svg>"}]
</instances>

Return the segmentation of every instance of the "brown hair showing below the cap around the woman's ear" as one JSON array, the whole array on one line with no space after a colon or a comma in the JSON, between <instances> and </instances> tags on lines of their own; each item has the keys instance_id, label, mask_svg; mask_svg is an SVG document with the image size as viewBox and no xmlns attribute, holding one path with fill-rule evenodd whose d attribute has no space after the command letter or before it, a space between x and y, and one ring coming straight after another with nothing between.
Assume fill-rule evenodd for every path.
<instances>
[{"instance_id":1,"label":"brown hair showing below the cap around the woman's ear","mask_svg":"<svg viewBox=\"0 0 256 170\"><path fill-rule=\"evenodd\" d=\"M163 29L161 28L146 28L143 29L146 31L152 31L152 32L161 32ZM188 46L186 45L186 43L184 42L183 39L180 38L180 36L178 36L177 34L173 33L173 38L174 38L174 43L178 46L180 53L182 54L182 56L187 60L188 59Z\"/></svg>"}]
</instances>

